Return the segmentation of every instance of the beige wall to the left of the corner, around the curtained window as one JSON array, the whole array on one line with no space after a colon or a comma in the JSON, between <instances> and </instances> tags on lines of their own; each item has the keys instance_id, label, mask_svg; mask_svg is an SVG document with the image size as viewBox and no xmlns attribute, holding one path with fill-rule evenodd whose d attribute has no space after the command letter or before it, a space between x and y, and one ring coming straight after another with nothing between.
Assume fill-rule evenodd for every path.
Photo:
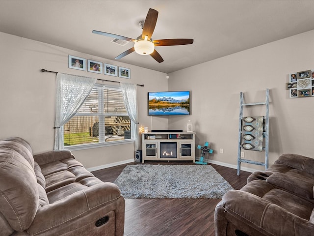
<instances>
[{"instance_id":1,"label":"beige wall to the left of the corner, around the curtained window","mask_svg":"<svg viewBox=\"0 0 314 236\"><path fill-rule=\"evenodd\" d=\"M0 139L19 136L34 153L53 148L55 74L40 69L99 79L144 84L138 87L139 122L151 129L147 116L147 92L168 89L166 74L56 47L0 32ZM68 55L106 62L131 69L131 80L68 68ZM100 82L101 83L101 82ZM111 83L112 85L118 85ZM167 119L154 119L154 128L168 128ZM86 168L134 158L133 144L73 151Z\"/></svg>"}]
</instances>

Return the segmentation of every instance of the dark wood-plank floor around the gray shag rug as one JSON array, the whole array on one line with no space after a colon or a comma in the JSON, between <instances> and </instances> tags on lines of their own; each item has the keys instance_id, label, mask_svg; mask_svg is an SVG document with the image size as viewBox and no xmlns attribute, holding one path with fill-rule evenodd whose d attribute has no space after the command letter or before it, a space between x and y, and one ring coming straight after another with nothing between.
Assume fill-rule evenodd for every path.
<instances>
[{"instance_id":1,"label":"dark wood-plank floor around the gray shag rug","mask_svg":"<svg viewBox=\"0 0 314 236\"><path fill-rule=\"evenodd\" d=\"M146 161L145 164L194 165L193 162ZM114 182L127 165L92 172L104 182ZM234 189L246 184L249 172L212 165ZM206 179L203 179L206 181ZM125 199L124 236L214 236L214 210L220 199Z\"/></svg>"}]
</instances>

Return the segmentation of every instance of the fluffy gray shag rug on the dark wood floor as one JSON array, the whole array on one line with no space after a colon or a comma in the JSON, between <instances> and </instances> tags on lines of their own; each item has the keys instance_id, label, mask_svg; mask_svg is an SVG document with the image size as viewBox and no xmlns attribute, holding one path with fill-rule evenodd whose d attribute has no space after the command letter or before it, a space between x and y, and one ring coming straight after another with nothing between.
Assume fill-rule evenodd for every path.
<instances>
[{"instance_id":1,"label":"fluffy gray shag rug on the dark wood floor","mask_svg":"<svg viewBox=\"0 0 314 236\"><path fill-rule=\"evenodd\" d=\"M210 165L128 165L114 183L124 198L220 199L233 189Z\"/></svg>"}]
</instances>

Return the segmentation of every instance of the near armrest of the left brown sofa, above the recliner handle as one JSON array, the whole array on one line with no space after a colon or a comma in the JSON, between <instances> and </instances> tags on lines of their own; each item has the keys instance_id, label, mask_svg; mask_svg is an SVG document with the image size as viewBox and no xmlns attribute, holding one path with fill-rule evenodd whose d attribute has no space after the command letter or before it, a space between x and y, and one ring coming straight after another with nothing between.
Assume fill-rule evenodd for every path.
<instances>
[{"instance_id":1,"label":"near armrest of the left brown sofa, above the recliner handle","mask_svg":"<svg viewBox=\"0 0 314 236\"><path fill-rule=\"evenodd\" d=\"M116 214L123 214L124 217L124 204L120 190L115 184L109 182L95 184L38 208L27 232L29 235L41 235L45 232L47 235L61 235L82 225L95 225L97 219L110 211L116 211ZM91 216L93 214L94 216ZM112 220L115 221L110 219Z\"/></svg>"}]
</instances>

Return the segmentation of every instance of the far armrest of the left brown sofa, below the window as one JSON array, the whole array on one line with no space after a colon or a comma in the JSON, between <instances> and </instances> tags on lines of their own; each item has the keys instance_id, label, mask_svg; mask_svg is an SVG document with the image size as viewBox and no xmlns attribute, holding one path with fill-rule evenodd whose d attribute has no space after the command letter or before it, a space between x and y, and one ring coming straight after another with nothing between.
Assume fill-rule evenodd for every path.
<instances>
[{"instance_id":1,"label":"far armrest of the left brown sofa, below the window","mask_svg":"<svg viewBox=\"0 0 314 236\"><path fill-rule=\"evenodd\" d=\"M34 155L34 160L40 166L54 162L54 161L60 161L63 159L67 159L67 158L75 159L74 156L72 155L72 152L70 150L66 150L66 149L47 151L44 153Z\"/></svg>"}]
</instances>

